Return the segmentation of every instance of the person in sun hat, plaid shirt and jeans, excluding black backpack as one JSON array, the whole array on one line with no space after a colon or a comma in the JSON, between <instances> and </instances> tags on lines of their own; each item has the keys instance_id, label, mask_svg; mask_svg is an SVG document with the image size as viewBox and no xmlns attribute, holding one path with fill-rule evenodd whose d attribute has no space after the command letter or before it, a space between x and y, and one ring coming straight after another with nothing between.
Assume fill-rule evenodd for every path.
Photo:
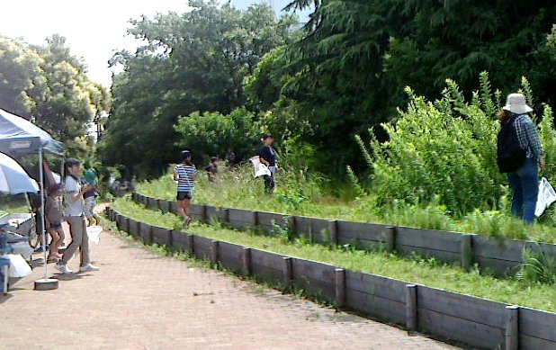
<instances>
[{"instance_id":1,"label":"person in sun hat, plaid shirt and jeans, excluding black backpack","mask_svg":"<svg viewBox=\"0 0 556 350\"><path fill-rule=\"evenodd\" d=\"M534 223L534 209L539 193L539 166L546 169L544 151L534 122L527 113L533 112L525 102L524 94L508 94L507 103L498 113L501 122L514 118L517 142L525 149L525 163L514 172L507 173L512 189L512 214L526 223Z\"/></svg>"}]
</instances>

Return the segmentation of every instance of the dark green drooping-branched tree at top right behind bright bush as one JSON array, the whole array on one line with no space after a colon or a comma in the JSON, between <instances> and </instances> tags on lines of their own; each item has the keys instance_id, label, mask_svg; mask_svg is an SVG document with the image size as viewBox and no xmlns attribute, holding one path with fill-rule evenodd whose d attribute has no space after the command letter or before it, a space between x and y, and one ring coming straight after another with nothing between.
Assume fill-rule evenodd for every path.
<instances>
[{"instance_id":1,"label":"dark green drooping-branched tree at top right behind bright bush","mask_svg":"<svg viewBox=\"0 0 556 350\"><path fill-rule=\"evenodd\" d=\"M327 156L320 164L338 173L357 162L354 134L396 116L404 87L434 100L446 78L471 92L483 70L504 93L530 76L538 97L552 103L556 79L546 34L556 16L548 0L527 3L462 0L295 0L314 5L304 37L292 45L291 81L282 94L300 106L315 130L308 141ZM272 76L272 74L269 74ZM330 169L332 166L332 169ZM359 168L359 166L356 166Z\"/></svg>"}]
</instances>

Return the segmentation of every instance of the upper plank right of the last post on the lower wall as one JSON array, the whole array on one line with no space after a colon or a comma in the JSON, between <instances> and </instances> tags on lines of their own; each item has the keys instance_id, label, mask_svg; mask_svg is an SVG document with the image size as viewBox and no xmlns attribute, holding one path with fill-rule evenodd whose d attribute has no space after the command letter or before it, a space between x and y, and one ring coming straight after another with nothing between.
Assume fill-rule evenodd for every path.
<instances>
[{"instance_id":1,"label":"upper plank right of the last post on the lower wall","mask_svg":"<svg viewBox=\"0 0 556 350\"><path fill-rule=\"evenodd\" d=\"M520 308L519 334L556 343L556 313Z\"/></svg>"}]
</instances>

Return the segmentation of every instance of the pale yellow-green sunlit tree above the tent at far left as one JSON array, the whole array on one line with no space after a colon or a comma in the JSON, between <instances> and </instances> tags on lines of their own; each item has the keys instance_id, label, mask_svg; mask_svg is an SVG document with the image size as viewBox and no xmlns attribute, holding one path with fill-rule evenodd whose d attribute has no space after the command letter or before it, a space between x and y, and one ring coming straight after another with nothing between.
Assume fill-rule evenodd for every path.
<instances>
[{"instance_id":1,"label":"pale yellow-green sunlit tree above the tent at far left","mask_svg":"<svg viewBox=\"0 0 556 350\"><path fill-rule=\"evenodd\" d=\"M65 142L68 155L85 157L93 148L88 126L109 110L111 96L88 79L64 37L46 41L37 46L0 36L0 108Z\"/></svg>"}]
</instances>

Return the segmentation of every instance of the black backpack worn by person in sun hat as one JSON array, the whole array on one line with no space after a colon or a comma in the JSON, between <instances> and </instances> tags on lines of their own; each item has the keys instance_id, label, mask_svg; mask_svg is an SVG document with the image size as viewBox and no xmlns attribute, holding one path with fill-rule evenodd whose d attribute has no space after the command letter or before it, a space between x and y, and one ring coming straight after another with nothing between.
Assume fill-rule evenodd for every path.
<instances>
[{"instance_id":1,"label":"black backpack worn by person in sun hat","mask_svg":"<svg viewBox=\"0 0 556 350\"><path fill-rule=\"evenodd\" d=\"M527 152L519 145L515 121L519 115L513 114L507 121L502 121L498 131L497 164L500 173L511 173L525 163Z\"/></svg>"}]
</instances>

